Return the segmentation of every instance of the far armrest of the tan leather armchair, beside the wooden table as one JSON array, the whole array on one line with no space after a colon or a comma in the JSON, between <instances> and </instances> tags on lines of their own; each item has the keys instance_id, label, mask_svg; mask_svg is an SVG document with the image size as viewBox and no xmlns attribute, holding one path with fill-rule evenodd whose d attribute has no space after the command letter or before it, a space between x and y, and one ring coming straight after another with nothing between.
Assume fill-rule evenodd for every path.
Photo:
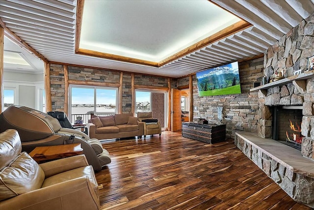
<instances>
[{"instance_id":1,"label":"far armrest of the tan leather armchair, beside the wooden table","mask_svg":"<svg viewBox=\"0 0 314 210\"><path fill-rule=\"evenodd\" d=\"M87 165L89 164L85 155L66 157L39 164L43 169L46 178Z\"/></svg>"}]
</instances>

